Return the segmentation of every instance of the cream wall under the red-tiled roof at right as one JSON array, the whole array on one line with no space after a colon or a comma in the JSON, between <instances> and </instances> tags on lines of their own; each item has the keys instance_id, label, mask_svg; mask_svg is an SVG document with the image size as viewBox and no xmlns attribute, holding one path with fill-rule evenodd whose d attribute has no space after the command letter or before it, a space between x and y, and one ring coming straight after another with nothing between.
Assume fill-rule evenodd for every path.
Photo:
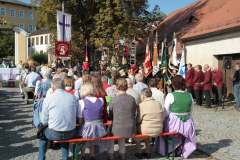
<instances>
[{"instance_id":1,"label":"cream wall under the red-tiled roof at right","mask_svg":"<svg viewBox=\"0 0 240 160\"><path fill-rule=\"evenodd\" d=\"M185 42L186 63L218 66L218 55L240 53L240 31Z\"/></svg>"}]
</instances>

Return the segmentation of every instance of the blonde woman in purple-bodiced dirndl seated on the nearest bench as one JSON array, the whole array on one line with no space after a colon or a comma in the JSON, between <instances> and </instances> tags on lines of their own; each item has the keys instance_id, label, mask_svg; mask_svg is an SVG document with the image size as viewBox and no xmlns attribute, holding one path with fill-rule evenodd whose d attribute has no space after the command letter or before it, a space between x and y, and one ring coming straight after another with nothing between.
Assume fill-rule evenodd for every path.
<instances>
[{"instance_id":1,"label":"blonde woman in purple-bodiced dirndl seated on the nearest bench","mask_svg":"<svg viewBox=\"0 0 240 160\"><path fill-rule=\"evenodd\" d=\"M81 86L81 97L78 109L78 123L81 129L77 131L78 136L82 138L98 139L105 137L108 133L102 122L102 111L104 101L102 98L96 98L94 87L86 82ZM84 122L83 122L84 121ZM88 141L83 146L80 145L81 160L85 160L85 148L90 147L91 160L94 160L94 152L102 153L110 146L109 141Z\"/></svg>"}]
</instances>

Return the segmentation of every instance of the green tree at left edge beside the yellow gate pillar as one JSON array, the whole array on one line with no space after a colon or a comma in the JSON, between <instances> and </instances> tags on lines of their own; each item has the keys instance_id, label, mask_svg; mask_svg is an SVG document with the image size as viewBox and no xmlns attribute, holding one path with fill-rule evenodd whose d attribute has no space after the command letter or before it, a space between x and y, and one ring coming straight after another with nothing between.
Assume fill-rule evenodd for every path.
<instances>
[{"instance_id":1,"label":"green tree at left edge beside the yellow gate pillar","mask_svg":"<svg viewBox=\"0 0 240 160\"><path fill-rule=\"evenodd\" d=\"M4 28L13 29L16 26L16 23L9 23ZM13 31L1 31L0 28L0 57L7 56L14 56L14 34Z\"/></svg>"}]
</instances>

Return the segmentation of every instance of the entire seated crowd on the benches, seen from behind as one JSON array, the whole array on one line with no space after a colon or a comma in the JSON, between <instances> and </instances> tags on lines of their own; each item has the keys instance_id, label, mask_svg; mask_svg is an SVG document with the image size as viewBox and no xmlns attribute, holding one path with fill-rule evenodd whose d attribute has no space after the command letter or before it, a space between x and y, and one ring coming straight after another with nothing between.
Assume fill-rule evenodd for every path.
<instances>
[{"instance_id":1,"label":"entire seated crowd on the benches, seen from behind","mask_svg":"<svg viewBox=\"0 0 240 160\"><path fill-rule=\"evenodd\" d=\"M172 79L174 92L164 97L155 78L143 83L141 72L51 70L24 66L20 84L21 94L28 103L28 92L35 91L34 125L45 127L44 138L39 139L38 160L45 159L48 140L68 140L74 137L98 139L109 134L132 137L136 143L136 158L150 158L149 143L155 139L155 149L165 155L165 143L160 134L180 133L175 138L175 150L169 153L187 158L196 149L196 134L192 118L193 98L185 92L185 80L177 75ZM110 101L109 101L110 97ZM109 105L108 105L109 104ZM111 126L104 123L111 121ZM76 125L79 124L79 127ZM134 138L145 134L149 138ZM119 139L120 159L126 159L125 139ZM141 142L145 150L141 151ZM72 154L69 143L60 143L62 159ZM70 149L69 149L70 147ZM90 148L90 159L107 150L107 159L114 159L114 140L88 141L81 148ZM170 149L171 148L171 149Z\"/></svg>"}]
</instances>

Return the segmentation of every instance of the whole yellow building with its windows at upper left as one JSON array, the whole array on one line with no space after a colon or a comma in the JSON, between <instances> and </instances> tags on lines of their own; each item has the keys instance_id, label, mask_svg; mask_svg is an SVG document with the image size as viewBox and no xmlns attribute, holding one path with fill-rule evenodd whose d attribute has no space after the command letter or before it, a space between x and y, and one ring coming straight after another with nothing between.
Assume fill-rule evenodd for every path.
<instances>
[{"instance_id":1,"label":"whole yellow building with its windows at upper left","mask_svg":"<svg viewBox=\"0 0 240 160\"><path fill-rule=\"evenodd\" d=\"M7 23L17 23L19 28L27 32L33 31L37 26L38 17L33 8L18 0L0 0L0 16Z\"/></svg>"}]
</instances>

